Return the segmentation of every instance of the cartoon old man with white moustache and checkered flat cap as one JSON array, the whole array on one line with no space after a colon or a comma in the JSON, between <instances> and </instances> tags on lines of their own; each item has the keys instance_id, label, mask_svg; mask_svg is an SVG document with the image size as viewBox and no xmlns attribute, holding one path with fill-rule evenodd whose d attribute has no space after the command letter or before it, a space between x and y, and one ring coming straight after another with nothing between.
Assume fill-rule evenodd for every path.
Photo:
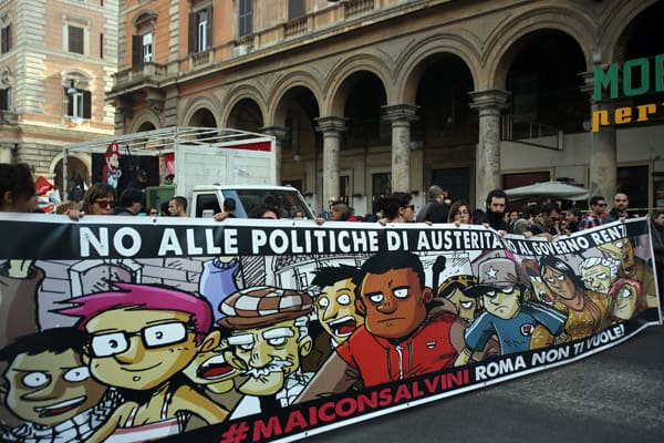
<instances>
[{"instance_id":1,"label":"cartoon old man with white moustache and checkered flat cap","mask_svg":"<svg viewBox=\"0 0 664 443\"><path fill-rule=\"evenodd\" d=\"M253 413L277 412L292 404L313 377L301 369L311 352L309 315L313 299L307 292L268 286L239 290L220 308L226 317L218 323L232 330L228 344L232 363L242 364L247 381L238 387L245 394L231 419Z\"/></svg>"}]
</instances>

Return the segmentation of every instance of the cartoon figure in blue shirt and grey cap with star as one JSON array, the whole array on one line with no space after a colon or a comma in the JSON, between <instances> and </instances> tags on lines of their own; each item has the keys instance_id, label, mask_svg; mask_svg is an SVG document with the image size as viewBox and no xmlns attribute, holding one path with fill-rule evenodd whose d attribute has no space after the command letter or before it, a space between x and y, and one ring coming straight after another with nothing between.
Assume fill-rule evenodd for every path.
<instances>
[{"instance_id":1,"label":"cartoon figure in blue shirt and grey cap with star","mask_svg":"<svg viewBox=\"0 0 664 443\"><path fill-rule=\"evenodd\" d=\"M465 292L479 297L485 312L466 329L466 347L455 365L468 363L473 352L483 349L494 334L498 337L500 353L508 354L531 349L532 334L539 324L553 336L563 331L567 317L562 312L541 302L523 301L526 286L515 261L488 258L479 264L478 279L478 285Z\"/></svg>"}]
</instances>

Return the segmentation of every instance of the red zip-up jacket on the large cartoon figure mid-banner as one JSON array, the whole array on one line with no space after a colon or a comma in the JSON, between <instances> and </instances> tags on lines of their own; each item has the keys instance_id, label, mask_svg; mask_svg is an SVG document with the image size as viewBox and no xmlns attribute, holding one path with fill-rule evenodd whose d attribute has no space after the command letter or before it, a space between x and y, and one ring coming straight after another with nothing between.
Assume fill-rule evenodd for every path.
<instances>
[{"instance_id":1,"label":"red zip-up jacket on the large cartoon figure mid-banner","mask_svg":"<svg viewBox=\"0 0 664 443\"><path fill-rule=\"evenodd\" d=\"M396 344L361 326L336 352L360 372L365 387L452 368L458 356L450 340L456 319L454 313L433 309L419 329Z\"/></svg>"}]
</instances>

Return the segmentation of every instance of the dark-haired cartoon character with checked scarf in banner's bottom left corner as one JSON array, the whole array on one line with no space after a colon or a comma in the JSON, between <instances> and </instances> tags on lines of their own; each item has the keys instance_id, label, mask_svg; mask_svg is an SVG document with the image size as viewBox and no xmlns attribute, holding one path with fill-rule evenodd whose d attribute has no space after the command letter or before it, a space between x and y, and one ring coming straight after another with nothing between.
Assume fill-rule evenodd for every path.
<instances>
[{"instance_id":1,"label":"dark-haired cartoon character with checked scarf in banner's bottom left corner","mask_svg":"<svg viewBox=\"0 0 664 443\"><path fill-rule=\"evenodd\" d=\"M8 363L0 388L9 411L24 423L3 429L3 442L84 441L122 402L114 389L90 377L81 354L85 333L45 329L0 351Z\"/></svg>"}]
</instances>

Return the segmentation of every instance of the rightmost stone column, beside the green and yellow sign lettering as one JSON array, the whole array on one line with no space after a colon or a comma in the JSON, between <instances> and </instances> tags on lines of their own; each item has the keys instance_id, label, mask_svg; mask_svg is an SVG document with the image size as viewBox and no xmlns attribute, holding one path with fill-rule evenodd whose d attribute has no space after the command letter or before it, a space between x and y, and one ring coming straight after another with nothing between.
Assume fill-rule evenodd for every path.
<instances>
[{"instance_id":1,"label":"rightmost stone column, beside the green and yellow sign lettering","mask_svg":"<svg viewBox=\"0 0 664 443\"><path fill-rule=\"evenodd\" d=\"M613 120L615 105L609 101L596 100L594 96L594 75L592 72L581 74L584 85L581 91L590 96L590 179L588 188L590 195L600 195L606 198L606 202L613 202L613 195L618 187L618 141L615 126L601 126L593 132L593 114L600 111L609 113L609 121Z\"/></svg>"}]
</instances>

